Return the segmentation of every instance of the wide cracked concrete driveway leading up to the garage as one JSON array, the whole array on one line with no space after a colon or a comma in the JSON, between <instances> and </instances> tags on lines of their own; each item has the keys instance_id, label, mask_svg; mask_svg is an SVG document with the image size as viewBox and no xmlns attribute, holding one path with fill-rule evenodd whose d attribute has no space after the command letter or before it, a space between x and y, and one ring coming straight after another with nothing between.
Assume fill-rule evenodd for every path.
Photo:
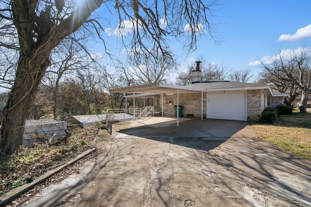
<instances>
[{"instance_id":1,"label":"wide cracked concrete driveway leading up to the garage","mask_svg":"<svg viewBox=\"0 0 311 207\"><path fill-rule=\"evenodd\" d=\"M101 130L96 144L96 161L24 206L311 206L311 161L246 122L149 117Z\"/></svg>"}]
</instances>

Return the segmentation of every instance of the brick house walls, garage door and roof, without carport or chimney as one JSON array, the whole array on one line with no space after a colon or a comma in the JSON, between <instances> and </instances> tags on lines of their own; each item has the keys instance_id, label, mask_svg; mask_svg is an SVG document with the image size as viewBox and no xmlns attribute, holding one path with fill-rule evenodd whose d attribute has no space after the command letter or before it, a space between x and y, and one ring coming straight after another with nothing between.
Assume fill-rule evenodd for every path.
<instances>
[{"instance_id":1,"label":"brick house walls, garage door and roof, without carport or chimney","mask_svg":"<svg viewBox=\"0 0 311 207\"><path fill-rule=\"evenodd\" d=\"M194 117L201 117L203 102L203 117L213 119L258 120L265 108L282 105L284 96L288 96L273 93L268 85L225 80L197 82L188 87L204 89L206 92L203 93L203 99L200 92L180 94L179 106L183 106L183 115L193 114ZM164 115L174 116L173 106L176 103L176 93L163 94Z\"/></svg>"}]
</instances>

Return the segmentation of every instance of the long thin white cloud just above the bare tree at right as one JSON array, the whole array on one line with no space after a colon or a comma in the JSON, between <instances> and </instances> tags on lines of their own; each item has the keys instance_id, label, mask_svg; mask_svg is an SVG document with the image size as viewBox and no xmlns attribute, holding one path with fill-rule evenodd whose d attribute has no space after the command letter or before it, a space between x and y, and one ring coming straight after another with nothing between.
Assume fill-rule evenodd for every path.
<instances>
[{"instance_id":1,"label":"long thin white cloud just above the bare tree at right","mask_svg":"<svg viewBox=\"0 0 311 207\"><path fill-rule=\"evenodd\" d=\"M294 54L301 54L303 51L311 52L310 48L297 48L297 49L283 49L279 54L274 56L266 55L260 60L248 63L249 66L257 66L261 63L272 64L274 61L278 60L280 57L283 59L291 59Z\"/></svg>"}]
</instances>

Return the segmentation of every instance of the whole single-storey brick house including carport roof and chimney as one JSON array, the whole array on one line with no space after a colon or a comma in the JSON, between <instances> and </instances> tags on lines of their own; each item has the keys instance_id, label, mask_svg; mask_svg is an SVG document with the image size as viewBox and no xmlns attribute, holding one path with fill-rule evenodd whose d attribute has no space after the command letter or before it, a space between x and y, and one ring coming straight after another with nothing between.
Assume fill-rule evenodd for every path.
<instances>
[{"instance_id":1,"label":"whole single-storey brick house including carport roof and chimney","mask_svg":"<svg viewBox=\"0 0 311 207\"><path fill-rule=\"evenodd\" d=\"M162 116L175 116L174 106L182 114L194 117L252 121L258 120L267 107L276 107L284 103L287 94L278 93L269 85L233 82L227 80L201 81L200 62L192 71L192 84L179 86L165 83L130 86L110 89L111 93L135 95L153 93L160 95L159 111ZM134 101L135 103L135 101ZM134 104L135 105L135 104ZM176 114L180 114L180 111ZM178 125L177 116L177 125Z\"/></svg>"}]
</instances>

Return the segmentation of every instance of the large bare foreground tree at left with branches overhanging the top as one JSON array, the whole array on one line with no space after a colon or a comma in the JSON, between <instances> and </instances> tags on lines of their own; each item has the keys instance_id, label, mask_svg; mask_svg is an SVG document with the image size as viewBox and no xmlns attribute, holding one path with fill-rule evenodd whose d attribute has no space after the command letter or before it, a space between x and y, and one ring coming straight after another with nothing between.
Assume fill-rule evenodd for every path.
<instances>
[{"instance_id":1,"label":"large bare foreground tree at left with branches overhanging the top","mask_svg":"<svg viewBox=\"0 0 311 207\"><path fill-rule=\"evenodd\" d=\"M119 34L124 33L124 19L133 26L131 42L123 39L124 45L133 51L159 50L170 59L167 36L181 37L188 51L196 48L196 37L210 30L209 17L216 1L203 0L86 0L78 7L65 8L64 4L55 5L50 1L11 0L0 1L1 22L9 21L18 39L18 62L14 68L14 84L3 111L0 151L12 154L22 144L23 129L30 102L51 64L51 51L71 33L82 25L96 26L96 32L103 27L91 14L103 3L119 16ZM3 24L2 24L3 25ZM183 25L184 28L180 27ZM2 29L2 28L0 28ZM7 30L4 28L3 30ZM12 34L14 35L14 34ZM104 38L100 36L104 41ZM184 42L184 41L183 41ZM139 55L138 53L137 55ZM172 59L172 58L171 58Z\"/></svg>"}]
</instances>

